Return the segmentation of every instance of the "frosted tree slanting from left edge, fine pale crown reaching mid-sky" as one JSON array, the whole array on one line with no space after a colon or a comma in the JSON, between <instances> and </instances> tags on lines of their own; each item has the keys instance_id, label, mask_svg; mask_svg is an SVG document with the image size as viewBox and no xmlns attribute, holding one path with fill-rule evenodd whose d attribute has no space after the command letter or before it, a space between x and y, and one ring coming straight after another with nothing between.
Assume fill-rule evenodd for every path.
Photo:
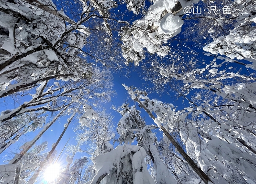
<instances>
[{"instance_id":1,"label":"frosted tree slanting from left edge, fine pale crown reaching mid-sky","mask_svg":"<svg viewBox=\"0 0 256 184\"><path fill-rule=\"evenodd\" d=\"M111 88L109 73L96 69L93 71L94 72L91 73L90 78L81 79L76 82L69 80L67 82L42 83L35 90L35 94L31 95L32 99L29 102L24 102L18 108L8 111L8 113L4 113L0 116L0 119L2 120L2 127L9 126L10 120L12 122L26 112L32 113L40 112L42 110L46 112L54 112L54 115L52 114L52 118L50 119L50 123L47 123L41 131L42 135L53 123L56 122L59 117L74 112L79 107L80 110L78 111L80 115L82 115L83 112L89 111L91 109L91 107L87 104L89 99L93 100L94 104L97 104L97 101L100 99L102 101L109 100L111 91L110 89L106 90L107 88ZM39 125L42 126L43 124L42 121L38 121L37 123L37 126L32 124L31 130L34 130ZM21 133L27 132L23 131L22 123L18 123L16 126L16 131ZM9 140L8 136L3 137L3 141L6 139ZM38 139L39 137L36 140ZM15 141L13 140L10 143L14 142ZM10 143L4 143L3 150L10 145Z\"/></svg>"}]
</instances>

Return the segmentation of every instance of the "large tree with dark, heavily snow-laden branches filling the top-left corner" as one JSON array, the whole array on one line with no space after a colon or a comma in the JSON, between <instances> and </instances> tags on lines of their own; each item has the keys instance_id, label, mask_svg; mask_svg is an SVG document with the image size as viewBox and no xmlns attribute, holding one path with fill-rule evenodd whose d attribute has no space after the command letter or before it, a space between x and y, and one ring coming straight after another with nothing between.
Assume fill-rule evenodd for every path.
<instances>
[{"instance_id":1,"label":"large tree with dark, heavily snow-laden branches filling the top-left corner","mask_svg":"<svg viewBox=\"0 0 256 184\"><path fill-rule=\"evenodd\" d=\"M80 14L71 20L52 1L1 1L0 25L9 34L1 36L0 46L5 54L0 60L0 97L30 89L50 79L78 80L89 75L84 56L101 59L83 48L87 39L93 40L90 36L91 23L99 31L102 29L101 22L97 25L91 19L105 21L98 11L106 13L101 11L104 7L93 10L97 3L79 0L76 3ZM51 11L40 8L45 6ZM95 39L99 40L98 37ZM107 40L111 41L105 39L105 43Z\"/></svg>"}]
</instances>

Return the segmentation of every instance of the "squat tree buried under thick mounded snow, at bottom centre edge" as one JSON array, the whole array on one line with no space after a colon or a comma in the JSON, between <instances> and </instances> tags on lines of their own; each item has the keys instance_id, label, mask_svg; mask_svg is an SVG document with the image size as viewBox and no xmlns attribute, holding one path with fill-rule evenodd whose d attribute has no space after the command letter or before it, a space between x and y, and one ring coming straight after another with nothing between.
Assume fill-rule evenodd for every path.
<instances>
[{"instance_id":1,"label":"squat tree buried under thick mounded snow, at bottom centre edge","mask_svg":"<svg viewBox=\"0 0 256 184\"><path fill-rule=\"evenodd\" d=\"M96 175L88 184L154 184L145 164L146 152L141 146L119 145L93 160Z\"/></svg>"}]
</instances>

